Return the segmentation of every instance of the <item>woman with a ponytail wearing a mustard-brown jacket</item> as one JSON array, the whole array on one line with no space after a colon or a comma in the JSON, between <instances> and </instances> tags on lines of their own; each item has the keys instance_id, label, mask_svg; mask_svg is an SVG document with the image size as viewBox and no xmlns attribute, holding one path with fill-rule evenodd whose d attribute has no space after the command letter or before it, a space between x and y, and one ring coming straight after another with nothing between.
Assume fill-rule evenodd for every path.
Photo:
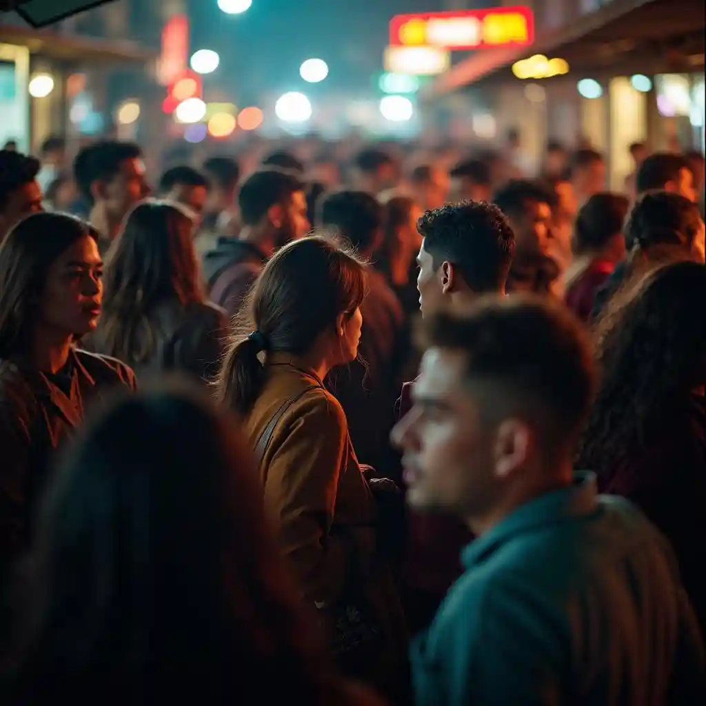
<instances>
[{"instance_id":1,"label":"woman with a ponytail wearing a mustard-brown jacket","mask_svg":"<svg viewBox=\"0 0 706 706\"><path fill-rule=\"evenodd\" d=\"M348 674L390 687L406 628L378 505L324 379L357 356L365 265L323 237L265 265L220 374L220 399L244 419L265 508L304 598L331 630Z\"/></svg>"}]
</instances>

